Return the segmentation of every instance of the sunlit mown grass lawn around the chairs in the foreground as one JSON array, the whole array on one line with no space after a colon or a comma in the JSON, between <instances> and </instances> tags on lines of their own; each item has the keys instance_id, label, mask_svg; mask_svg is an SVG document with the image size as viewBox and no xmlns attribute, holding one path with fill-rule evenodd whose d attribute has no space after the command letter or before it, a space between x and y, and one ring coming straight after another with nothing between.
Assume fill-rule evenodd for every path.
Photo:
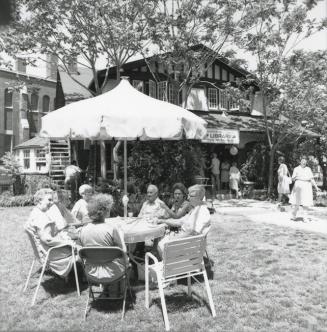
<instances>
[{"instance_id":1,"label":"sunlit mown grass lawn around the chairs in the foreground","mask_svg":"<svg viewBox=\"0 0 327 332\"><path fill-rule=\"evenodd\" d=\"M77 297L74 282L47 275L31 308L37 278L21 293L32 262L23 232L31 208L0 208L1 331L164 331L158 292L150 310L144 290L120 321L121 304L102 305L82 320L87 291ZM217 317L204 290L187 299L186 287L166 289L172 331L327 332L327 237L253 223L236 216L213 217L208 252Z\"/></svg>"}]
</instances>

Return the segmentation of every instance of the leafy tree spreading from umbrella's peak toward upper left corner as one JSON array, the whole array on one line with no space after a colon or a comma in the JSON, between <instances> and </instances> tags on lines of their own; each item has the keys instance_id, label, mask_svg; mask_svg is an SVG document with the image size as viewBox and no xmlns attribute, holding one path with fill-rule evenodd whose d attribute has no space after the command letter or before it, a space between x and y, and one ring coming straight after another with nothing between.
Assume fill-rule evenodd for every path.
<instances>
[{"instance_id":1,"label":"leafy tree spreading from umbrella's peak toward upper left corner","mask_svg":"<svg viewBox=\"0 0 327 332\"><path fill-rule=\"evenodd\" d=\"M151 0L17 0L22 14L2 33L7 51L25 55L52 54L61 70L84 88L76 76L74 62L93 73L95 92L101 94L107 83L100 84L97 64L119 69L147 43L147 17L156 8ZM75 74L75 75L73 75Z\"/></svg>"}]
</instances>

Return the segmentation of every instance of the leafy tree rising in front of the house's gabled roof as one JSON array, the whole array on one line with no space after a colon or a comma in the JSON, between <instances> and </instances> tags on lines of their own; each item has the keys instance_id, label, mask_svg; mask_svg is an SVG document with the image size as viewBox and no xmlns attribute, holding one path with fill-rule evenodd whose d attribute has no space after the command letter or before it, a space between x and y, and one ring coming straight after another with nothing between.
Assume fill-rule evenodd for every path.
<instances>
[{"instance_id":1,"label":"leafy tree rising in front of the house's gabled roof","mask_svg":"<svg viewBox=\"0 0 327 332\"><path fill-rule=\"evenodd\" d=\"M184 92L184 107L194 84L215 59L222 58L231 36L239 34L247 6L246 0L158 1L156 14L149 20L155 56L148 66L151 70L156 62L166 69L167 81Z\"/></svg>"}]
</instances>

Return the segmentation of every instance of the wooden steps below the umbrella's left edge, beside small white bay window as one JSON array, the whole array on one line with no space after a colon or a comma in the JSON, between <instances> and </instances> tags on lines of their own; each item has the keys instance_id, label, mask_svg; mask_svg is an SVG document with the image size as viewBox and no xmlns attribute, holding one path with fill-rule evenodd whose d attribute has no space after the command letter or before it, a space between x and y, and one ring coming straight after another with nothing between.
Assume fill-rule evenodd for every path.
<instances>
[{"instance_id":1,"label":"wooden steps below the umbrella's left edge, beside small white bay window","mask_svg":"<svg viewBox=\"0 0 327 332\"><path fill-rule=\"evenodd\" d=\"M50 140L50 178L53 184L64 188L65 168L71 163L70 141Z\"/></svg>"}]
</instances>

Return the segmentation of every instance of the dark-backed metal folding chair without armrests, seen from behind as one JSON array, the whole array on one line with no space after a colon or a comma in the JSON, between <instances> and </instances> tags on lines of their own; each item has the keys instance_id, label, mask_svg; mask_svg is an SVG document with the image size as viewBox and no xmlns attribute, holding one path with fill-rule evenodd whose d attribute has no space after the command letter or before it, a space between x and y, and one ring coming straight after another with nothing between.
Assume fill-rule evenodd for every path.
<instances>
[{"instance_id":1,"label":"dark-backed metal folding chair without armrests, seen from behind","mask_svg":"<svg viewBox=\"0 0 327 332\"><path fill-rule=\"evenodd\" d=\"M129 276L129 263L128 256L126 251L119 247L83 247L79 251L79 255L82 259L82 265L85 272L85 276L89 285L89 295L86 302L85 312L84 312L84 320L86 320L86 316L89 311L89 302L90 297L92 297L93 301L96 300L123 300L123 312L122 312L122 320L125 316L125 305L126 305L126 293L127 289L130 291L130 284L128 280ZM117 258L122 258L124 269L122 272L117 273L112 278L105 277L95 277L94 275L90 275L87 271L87 265L91 265L92 268L103 267L104 265L111 263L113 260ZM94 294L102 294L101 291L94 291L92 286L108 286L111 284L117 284L118 282L123 281L123 295L122 296L107 296L107 297L95 297ZM130 293L131 294L131 293ZM91 309L91 308L90 308Z\"/></svg>"}]
</instances>

